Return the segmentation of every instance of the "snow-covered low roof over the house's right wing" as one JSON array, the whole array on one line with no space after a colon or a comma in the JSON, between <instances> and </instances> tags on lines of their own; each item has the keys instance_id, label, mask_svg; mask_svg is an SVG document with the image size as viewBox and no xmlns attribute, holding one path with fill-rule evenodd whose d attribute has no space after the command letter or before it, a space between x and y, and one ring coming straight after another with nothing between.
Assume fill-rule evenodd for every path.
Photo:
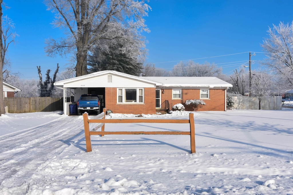
<instances>
[{"instance_id":1,"label":"snow-covered low roof over the house's right wing","mask_svg":"<svg viewBox=\"0 0 293 195\"><path fill-rule=\"evenodd\" d=\"M230 83L217 77L144 77L151 81L163 83L165 87L232 87Z\"/></svg>"}]
</instances>

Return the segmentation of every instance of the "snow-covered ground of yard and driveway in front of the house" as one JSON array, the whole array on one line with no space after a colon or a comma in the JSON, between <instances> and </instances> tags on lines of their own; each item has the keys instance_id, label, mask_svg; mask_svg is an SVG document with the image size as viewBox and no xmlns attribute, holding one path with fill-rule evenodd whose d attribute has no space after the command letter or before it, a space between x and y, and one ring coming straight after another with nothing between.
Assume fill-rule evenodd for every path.
<instances>
[{"instance_id":1,"label":"snow-covered ground of yard and driveway in front of the house","mask_svg":"<svg viewBox=\"0 0 293 195\"><path fill-rule=\"evenodd\" d=\"M91 136L86 153L82 116L2 115L0 194L293 194L293 109L193 113L194 154L185 135ZM156 130L189 131L189 124L105 125Z\"/></svg>"}]
</instances>

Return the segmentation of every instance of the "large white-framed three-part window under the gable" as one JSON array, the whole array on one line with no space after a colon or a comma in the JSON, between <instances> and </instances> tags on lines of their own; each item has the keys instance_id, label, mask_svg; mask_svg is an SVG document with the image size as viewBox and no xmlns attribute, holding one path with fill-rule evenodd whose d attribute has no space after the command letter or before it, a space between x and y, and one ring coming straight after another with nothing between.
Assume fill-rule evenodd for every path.
<instances>
[{"instance_id":1,"label":"large white-framed three-part window under the gable","mask_svg":"<svg viewBox=\"0 0 293 195\"><path fill-rule=\"evenodd\" d=\"M118 88L117 103L143 103L143 88Z\"/></svg>"}]
</instances>

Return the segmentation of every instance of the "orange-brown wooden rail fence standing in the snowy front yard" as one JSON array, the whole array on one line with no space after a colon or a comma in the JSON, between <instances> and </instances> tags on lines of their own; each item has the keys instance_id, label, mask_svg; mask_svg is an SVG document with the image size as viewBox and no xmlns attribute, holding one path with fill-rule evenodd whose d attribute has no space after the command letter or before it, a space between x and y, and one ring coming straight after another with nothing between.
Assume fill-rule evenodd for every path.
<instances>
[{"instance_id":1,"label":"orange-brown wooden rail fence standing in the snowy front yard","mask_svg":"<svg viewBox=\"0 0 293 195\"><path fill-rule=\"evenodd\" d=\"M91 135L190 135L191 153L195 153L195 130L193 113L189 114L189 119L105 119L106 109L93 119L88 119L88 114L84 113L84 134L86 138L86 151L91 152ZM98 126L89 130L89 123L99 123ZM190 131L105 131L105 123L189 123ZM101 131L96 131L101 127Z\"/></svg>"}]
</instances>

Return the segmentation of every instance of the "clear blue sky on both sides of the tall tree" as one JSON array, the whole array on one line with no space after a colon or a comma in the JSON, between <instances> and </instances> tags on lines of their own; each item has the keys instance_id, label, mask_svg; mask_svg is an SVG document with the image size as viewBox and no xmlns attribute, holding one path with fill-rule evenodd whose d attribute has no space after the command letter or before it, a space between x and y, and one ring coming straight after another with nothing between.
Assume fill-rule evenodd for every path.
<instances>
[{"instance_id":1,"label":"clear blue sky on both sides of the tall tree","mask_svg":"<svg viewBox=\"0 0 293 195\"><path fill-rule=\"evenodd\" d=\"M4 15L13 20L19 35L8 48L11 70L22 73L23 79L38 80L36 66L41 66L43 77L47 69L54 72L57 63L61 71L68 67L66 58L47 57L44 52L45 39L61 37L62 30L52 27L54 14L42 1L4 2L10 7ZM265 56L257 52L263 52L260 44L268 27L293 20L291 0L150 0L149 5L147 62L167 70L179 61L194 59L218 64L223 73L231 74L248 61L250 51L256 52L252 69L258 69Z\"/></svg>"}]
</instances>

